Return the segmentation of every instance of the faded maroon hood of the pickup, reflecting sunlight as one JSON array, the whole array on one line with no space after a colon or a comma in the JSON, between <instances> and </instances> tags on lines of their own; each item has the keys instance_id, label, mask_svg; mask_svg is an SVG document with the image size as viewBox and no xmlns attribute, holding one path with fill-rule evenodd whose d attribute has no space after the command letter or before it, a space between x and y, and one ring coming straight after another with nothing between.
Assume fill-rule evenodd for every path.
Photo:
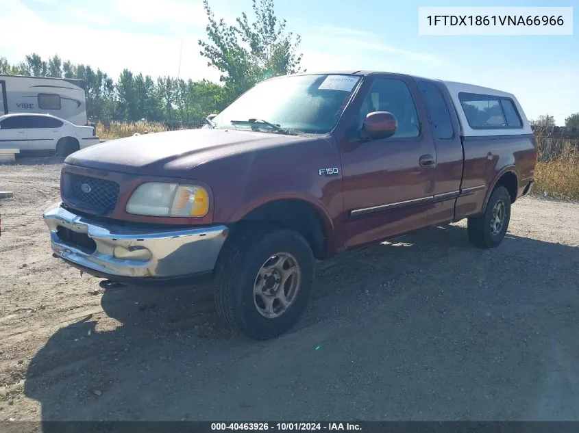
<instances>
[{"instance_id":1,"label":"faded maroon hood of the pickup, reflecting sunlight","mask_svg":"<svg viewBox=\"0 0 579 433\"><path fill-rule=\"evenodd\" d=\"M64 162L97 170L175 176L227 155L304 140L311 138L234 129L189 129L95 144L69 155Z\"/></svg>"}]
</instances>

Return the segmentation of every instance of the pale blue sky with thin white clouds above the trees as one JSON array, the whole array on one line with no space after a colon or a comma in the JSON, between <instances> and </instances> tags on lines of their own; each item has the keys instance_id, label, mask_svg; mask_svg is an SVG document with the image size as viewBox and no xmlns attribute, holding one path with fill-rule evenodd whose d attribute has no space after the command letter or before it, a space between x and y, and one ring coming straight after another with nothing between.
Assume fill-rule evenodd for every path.
<instances>
[{"instance_id":1,"label":"pale blue sky with thin white clouds above the trees","mask_svg":"<svg viewBox=\"0 0 579 433\"><path fill-rule=\"evenodd\" d=\"M573 1L485 1L484 6L573 6ZM550 114L558 124L579 111L579 35L419 36L419 6L464 1L275 0L278 16L300 34L308 70L373 69L464 81L513 92L528 118ZM211 0L233 22L251 0ZM43 57L153 76L217 79L197 40L206 17L201 0L0 0L0 55L10 62ZM574 10L577 22L579 7ZM5 37L13 35L14 37Z\"/></svg>"}]
</instances>

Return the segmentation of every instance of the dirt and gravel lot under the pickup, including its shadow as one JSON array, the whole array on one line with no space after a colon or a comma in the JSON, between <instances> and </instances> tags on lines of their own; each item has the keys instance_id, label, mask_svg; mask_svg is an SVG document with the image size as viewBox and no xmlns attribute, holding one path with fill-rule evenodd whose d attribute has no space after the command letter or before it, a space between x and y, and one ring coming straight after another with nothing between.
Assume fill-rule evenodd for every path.
<instances>
[{"instance_id":1,"label":"dirt and gravel lot under the pickup, including its shadow","mask_svg":"<svg viewBox=\"0 0 579 433\"><path fill-rule=\"evenodd\" d=\"M208 287L116 289L51 257L60 165L0 166L0 420L579 419L579 205L524 198L326 263L299 325L225 332Z\"/></svg>"}]
</instances>

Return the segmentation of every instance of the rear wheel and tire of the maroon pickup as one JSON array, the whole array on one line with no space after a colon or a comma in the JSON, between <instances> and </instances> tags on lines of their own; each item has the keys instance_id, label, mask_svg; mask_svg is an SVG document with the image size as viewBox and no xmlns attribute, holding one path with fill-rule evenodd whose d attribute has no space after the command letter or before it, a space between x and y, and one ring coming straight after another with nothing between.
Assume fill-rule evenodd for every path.
<instances>
[{"instance_id":1,"label":"rear wheel and tire of the maroon pickup","mask_svg":"<svg viewBox=\"0 0 579 433\"><path fill-rule=\"evenodd\" d=\"M504 186L494 189L484 213L469 217L467 228L471 244L495 248L504 239L510 222L510 194Z\"/></svg>"}]
</instances>

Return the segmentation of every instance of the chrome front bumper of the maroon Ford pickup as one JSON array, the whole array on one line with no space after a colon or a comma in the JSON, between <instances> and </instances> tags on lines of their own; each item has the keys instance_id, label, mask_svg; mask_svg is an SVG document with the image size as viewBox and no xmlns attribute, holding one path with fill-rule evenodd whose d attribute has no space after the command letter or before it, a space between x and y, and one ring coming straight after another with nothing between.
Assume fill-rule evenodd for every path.
<instances>
[{"instance_id":1,"label":"chrome front bumper of the maroon Ford pickup","mask_svg":"<svg viewBox=\"0 0 579 433\"><path fill-rule=\"evenodd\" d=\"M123 278L167 279L211 272L229 232L226 226L177 230L114 226L75 215L60 203L47 209L43 218L58 257L88 274ZM78 233L75 236L92 247L63 240L67 237L62 228Z\"/></svg>"}]
</instances>

